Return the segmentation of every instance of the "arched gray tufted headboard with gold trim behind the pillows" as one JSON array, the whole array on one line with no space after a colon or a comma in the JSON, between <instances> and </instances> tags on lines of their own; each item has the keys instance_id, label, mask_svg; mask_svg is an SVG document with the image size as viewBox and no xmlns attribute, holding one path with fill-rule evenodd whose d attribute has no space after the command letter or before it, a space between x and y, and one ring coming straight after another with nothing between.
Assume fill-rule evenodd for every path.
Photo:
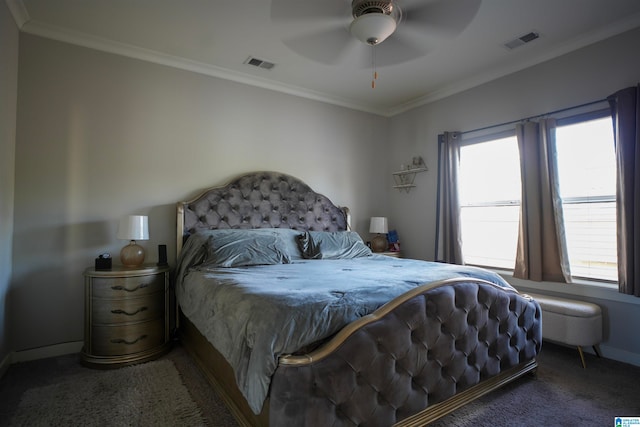
<instances>
[{"instance_id":1,"label":"arched gray tufted headboard with gold trim behind the pillows","mask_svg":"<svg viewBox=\"0 0 640 427\"><path fill-rule=\"evenodd\" d=\"M202 192L177 206L177 251L198 230L218 228L292 228L343 231L350 227L347 208L290 175L251 172L222 187Z\"/></svg>"}]
</instances>

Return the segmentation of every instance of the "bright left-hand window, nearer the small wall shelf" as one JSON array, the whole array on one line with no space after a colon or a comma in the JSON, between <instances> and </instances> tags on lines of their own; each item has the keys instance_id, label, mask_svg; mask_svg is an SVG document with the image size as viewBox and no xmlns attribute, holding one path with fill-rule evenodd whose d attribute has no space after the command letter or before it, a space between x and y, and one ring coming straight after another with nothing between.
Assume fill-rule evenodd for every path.
<instances>
[{"instance_id":1,"label":"bright left-hand window, nearer the small wall shelf","mask_svg":"<svg viewBox=\"0 0 640 427\"><path fill-rule=\"evenodd\" d=\"M463 146L458 178L465 262L513 269L520 212L515 136Z\"/></svg>"}]
</instances>

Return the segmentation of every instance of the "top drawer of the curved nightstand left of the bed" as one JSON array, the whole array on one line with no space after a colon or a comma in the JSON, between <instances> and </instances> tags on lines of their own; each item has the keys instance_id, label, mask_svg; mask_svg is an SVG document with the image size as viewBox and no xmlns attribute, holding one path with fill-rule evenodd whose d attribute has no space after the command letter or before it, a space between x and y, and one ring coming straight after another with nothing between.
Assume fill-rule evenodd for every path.
<instances>
[{"instance_id":1,"label":"top drawer of the curved nightstand left of the bed","mask_svg":"<svg viewBox=\"0 0 640 427\"><path fill-rule=\"evenodd\" d=\"M93 297L124 298L164 291L164 274L132 277L96 277L91 284Z\"/></svg>"}]
</instances>

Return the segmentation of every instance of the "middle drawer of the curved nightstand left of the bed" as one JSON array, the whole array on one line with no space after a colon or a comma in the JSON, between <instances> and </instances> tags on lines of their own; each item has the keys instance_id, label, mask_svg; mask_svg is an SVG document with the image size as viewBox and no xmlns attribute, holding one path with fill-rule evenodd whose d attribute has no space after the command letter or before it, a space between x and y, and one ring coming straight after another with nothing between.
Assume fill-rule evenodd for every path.
<instances>
[{"instance_id":1,"label":"middle drawer of the curved nightstand left of the bed","mask_svg":"<svg viewBox=\"0 0 640 427\"><path fill-rule=\"evenodd\" d=\"M93 301L92 323L104 325L113 323L142 322L164 315L164 295L159 292L142 298Z\"/></svg>"}]
</instances>

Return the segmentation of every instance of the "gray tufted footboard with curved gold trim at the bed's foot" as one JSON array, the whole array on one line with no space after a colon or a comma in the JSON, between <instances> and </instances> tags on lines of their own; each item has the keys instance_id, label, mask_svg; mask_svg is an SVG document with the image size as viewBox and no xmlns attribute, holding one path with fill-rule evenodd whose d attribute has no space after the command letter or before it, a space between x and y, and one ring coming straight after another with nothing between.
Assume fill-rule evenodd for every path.
<instances>
[{"instance_id":1,"label":"gray tufted footboard with curved gold trim at the bed's foot","mask_svg":"<svg viewBox=\"0 0 640 427\"><path fill-rule=\"evenodd\" d=\"M475 279L425 285L282 358L269 424L424 425L534 369L541 344L533 299Z\"/></svg>"}]
</instances>

